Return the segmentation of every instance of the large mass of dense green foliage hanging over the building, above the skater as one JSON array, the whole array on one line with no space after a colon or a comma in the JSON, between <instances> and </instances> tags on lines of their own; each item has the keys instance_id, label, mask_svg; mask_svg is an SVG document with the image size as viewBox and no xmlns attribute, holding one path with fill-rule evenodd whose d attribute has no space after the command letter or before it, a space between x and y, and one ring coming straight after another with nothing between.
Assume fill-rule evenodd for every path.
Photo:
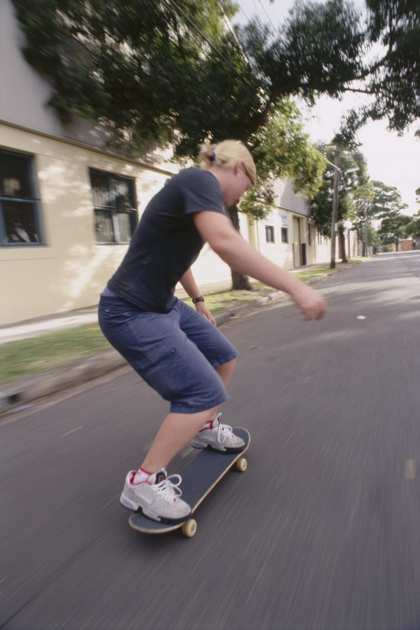
<instances>
[{"instance_id":1,"label":"large mass of dense green foliage hanging over the building, above the skater","mask_svg":"<svg viewBox=\"0 0 420 630\"><path fill-rule=\"evenodd\" d=\"M76 114L101 123L110 145L132 154L171 142L191 155L216 129L236 137L261 108L258 79L217 0L181 5L14 0L26 59L50 81L62 122ZM224 3L228 17L233 6Z\"/></svg>"}]
</instances>

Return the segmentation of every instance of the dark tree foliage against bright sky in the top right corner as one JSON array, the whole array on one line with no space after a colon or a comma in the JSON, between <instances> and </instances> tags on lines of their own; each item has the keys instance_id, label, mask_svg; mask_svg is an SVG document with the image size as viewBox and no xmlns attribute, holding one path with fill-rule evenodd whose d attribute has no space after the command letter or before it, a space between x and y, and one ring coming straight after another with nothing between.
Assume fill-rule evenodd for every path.
<instances>
[{"instance_id":1,"label":"dark tree foliage against bright sky in the top right corner","mask_svg":"<svg viewBox=\"0 0 420 630\"><path fill-rule=\"evenodd\" d=\"M346 145L355 142L368 118L387 119L389 129L399 134L420 118L420 4L366 0L366 5L364 26L350 3L331 0L320 6L298 0L277 37L258 23L245 27L241 36L270 85L270 99L285 90L309 102L319 94L366 95L368 105L349 112L343 122L340 144ZM380 52L365 62L366 51L377 50L378 44Z\"/></svg>"}]
</instances>

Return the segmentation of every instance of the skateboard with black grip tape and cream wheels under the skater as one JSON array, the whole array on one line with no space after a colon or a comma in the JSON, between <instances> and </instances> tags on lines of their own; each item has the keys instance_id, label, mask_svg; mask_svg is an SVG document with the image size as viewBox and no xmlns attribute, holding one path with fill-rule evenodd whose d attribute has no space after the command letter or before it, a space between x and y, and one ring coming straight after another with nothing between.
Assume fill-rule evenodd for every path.
<instances>
[{"instance_id":1,"label":"skateboard with black grip tape and cream wheels under the skater","mask_svg":"<svg viewBox=\"0 0 420 630\"><path fill-rule=\"evenodd\" d=\"M249 447L251 438L246 429L235 428L234 433L245 442L239 453L224 453L207 447L200 450L179 471L182 478L182 498L191 506L191 514L231 467L236 466L241 473L246 471L247 462L242 455ZM197 530L196 521L191 517L182 523L168 524L147 518L142 512L134 512L128 523L130 527L144 534L165 534L181 529L184 536L191 538Z\"/></svg>"}]
</instances>

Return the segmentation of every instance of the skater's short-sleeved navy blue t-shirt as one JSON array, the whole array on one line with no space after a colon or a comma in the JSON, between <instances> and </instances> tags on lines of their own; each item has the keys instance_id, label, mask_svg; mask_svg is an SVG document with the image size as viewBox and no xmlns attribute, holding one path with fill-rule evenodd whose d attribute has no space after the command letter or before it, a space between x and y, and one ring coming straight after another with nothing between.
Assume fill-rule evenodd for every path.
<instances>
[{"instance_id":1,"label":"skater's short-sleeved navy blue t-shirt","mask_svg":"<svg viewBox=\"0 0 420 630\"><path fill-rule=\"evenodd\" d=\"M227 214L215 176L199 168L173 176L147 204L109 289L145 311L168 312L179 278L203 247L193 223L203 210Z\"/></svg>"}]
</instances>

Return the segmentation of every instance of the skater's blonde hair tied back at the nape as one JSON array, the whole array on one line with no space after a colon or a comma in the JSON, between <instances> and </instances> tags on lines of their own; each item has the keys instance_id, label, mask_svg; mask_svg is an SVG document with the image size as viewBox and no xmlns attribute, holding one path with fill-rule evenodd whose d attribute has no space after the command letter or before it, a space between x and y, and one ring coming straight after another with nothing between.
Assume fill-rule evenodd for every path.
<instances>
[{"instance_id":1,"label":"skater's blonde hair tied back at the nape","mask_svg":"<svg viewBox=\"0 0 420 630\"><path fill-rule=\"evenodd\" d=\"M224 166L225 168L235 168L238 162L243 162L246 174L254 185L257 180L253 156L247 147L239 140L223 140L219 144L211 144L206 138L200 144L200 168L208 169L213 164Z\"/></svg>"}]
</instances>

